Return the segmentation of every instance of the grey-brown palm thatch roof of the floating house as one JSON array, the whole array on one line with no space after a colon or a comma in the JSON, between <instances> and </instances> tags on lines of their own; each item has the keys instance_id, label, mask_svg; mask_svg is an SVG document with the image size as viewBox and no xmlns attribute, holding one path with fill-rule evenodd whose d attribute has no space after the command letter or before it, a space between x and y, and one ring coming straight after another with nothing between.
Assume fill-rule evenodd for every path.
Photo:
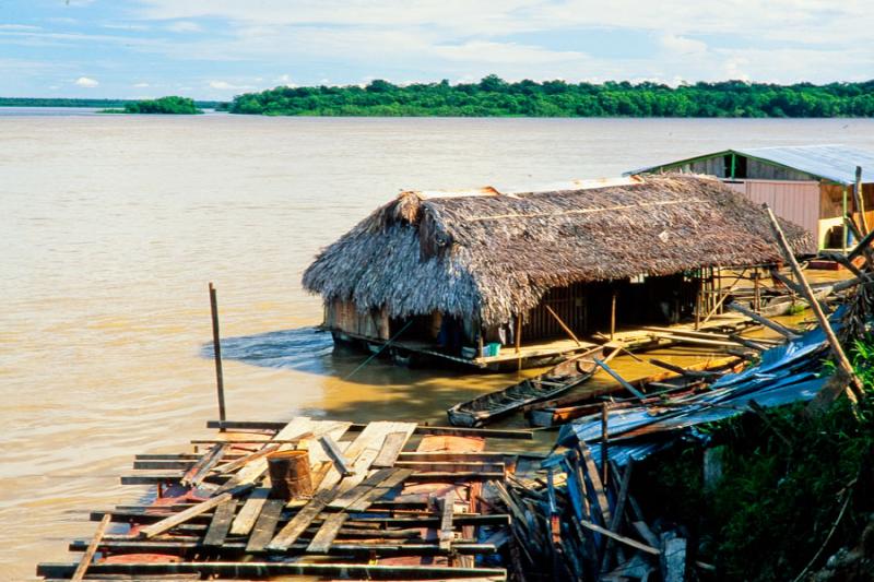
<instances>
[{"instance_id":1,"label":"grey-brown palm thatch roof of the floating house","mask_svg":"<svg viewBox=\"0 0 874 582\"><path fill-rule=\"evenodd\" d=\"M815 250L801 227L783 228L799 254ZM324 249L304 287L361 311L493 324L556 286L780 260L761 207L713 179L662 175L518 194L404 192Z\"/></svg>"}]
</instances>

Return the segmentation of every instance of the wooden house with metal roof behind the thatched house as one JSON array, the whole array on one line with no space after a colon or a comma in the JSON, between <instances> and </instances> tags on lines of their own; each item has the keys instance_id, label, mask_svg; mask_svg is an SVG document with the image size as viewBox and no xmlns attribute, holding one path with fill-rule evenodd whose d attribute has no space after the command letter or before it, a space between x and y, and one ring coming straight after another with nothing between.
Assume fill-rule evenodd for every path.
<instances>
[{"instance_id":1,"label":"wooden house with metal roof behind the thatched house","mask_svg":"<svg viewBox=\"0 0 874 582\"><path fill-rule=\"evenodd\" d=\"M862 168L861 176L857 168ZM820 249L842 249L850 230L843 216L874 226L874 153L846 145L794 145L723 150L626 173L716 176L753 202L803 226Z\"/></svg>"}]
</instances>

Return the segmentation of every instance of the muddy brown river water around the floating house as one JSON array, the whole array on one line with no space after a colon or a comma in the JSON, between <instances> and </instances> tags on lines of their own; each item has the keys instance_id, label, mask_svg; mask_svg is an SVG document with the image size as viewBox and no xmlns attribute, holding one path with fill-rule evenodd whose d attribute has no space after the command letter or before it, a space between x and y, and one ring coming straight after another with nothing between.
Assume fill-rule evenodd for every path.
<instances>
[{"instance_id":1,"label":"muddy brown river water around the floating house","mask_svg":"<svg viewBox=\"0 0 874 582\"><path fill-rule=\"evenodd\" d=\"M534 188L731 145L874 149L873 130L0 110L0 581L71 559L67 541L94 531L87 510L144 496L118 483L135 453L212 435L209 281L229 418L445 423L449 405L516 375L374 363L344 380L364 356L314 331L321 306L300 274L375 206L402 189Z\"/></svg>"}]
</instances>

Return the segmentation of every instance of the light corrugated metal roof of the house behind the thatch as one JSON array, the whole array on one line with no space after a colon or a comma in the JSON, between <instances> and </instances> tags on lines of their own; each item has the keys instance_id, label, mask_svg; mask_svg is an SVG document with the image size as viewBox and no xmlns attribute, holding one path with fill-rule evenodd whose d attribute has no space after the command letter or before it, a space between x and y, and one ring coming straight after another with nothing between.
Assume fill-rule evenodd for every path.
<instances>
[{"instance_id":1,"label":"light corrugated metal roof of the house behind the thatch","mask_svg":"<svg viewBox=\"0 0 874 582\"><path fill-rule=\"evenodd\" d=\"M831 180L838 183L851 185L855 182L855 167L862 166L862 180L874 182L874 153L858 147L850 147L839 144L827 145L781 145L775 147L739 147L704 154L687 159L677 159L659 164L638 170L626 173L645 174L653 171L664 166L674 166L693 159L701 159L731 153L741 154L747 157L764 159L773 164L779 164L792 169L804 171Z\"/></svg>"}]
</instances>

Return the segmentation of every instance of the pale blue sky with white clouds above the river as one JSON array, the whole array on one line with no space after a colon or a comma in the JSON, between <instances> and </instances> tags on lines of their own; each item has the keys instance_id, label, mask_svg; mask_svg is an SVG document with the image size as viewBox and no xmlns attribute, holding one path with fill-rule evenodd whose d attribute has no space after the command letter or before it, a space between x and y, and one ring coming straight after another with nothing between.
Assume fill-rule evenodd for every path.
<instances>
[{"instance_id":1,"label":"pale blue sky with white clouds above the river","mask_svg":"<svg viewBox=\"0 0 874 582\"><path fill-rule=\"evenodd\" d=\"M866 1L3 0L0 96L276 85L874 78Z\"/></svg>"}]
</instances>

